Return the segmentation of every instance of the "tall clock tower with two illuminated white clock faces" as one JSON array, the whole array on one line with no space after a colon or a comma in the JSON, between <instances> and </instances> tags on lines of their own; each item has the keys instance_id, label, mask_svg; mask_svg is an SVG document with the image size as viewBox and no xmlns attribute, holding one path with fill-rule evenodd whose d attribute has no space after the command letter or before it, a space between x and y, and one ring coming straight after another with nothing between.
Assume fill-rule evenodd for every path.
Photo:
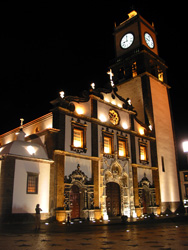
<instances>
[{"instance_id":1,"label":"tall clock tower with two illuminated white clock faces","mask_svg":"<svg viewBox=\"0 0 188 250\"><path fill-rule=\"evenodd\" d=\"M130 98L140 121L156 138L161 211L180 206L178 173L165 62L159 57L154 25L136 11L115 27L116 58L110 66L118 93ZM156 166L152 166L156 167Z\"/></svg>"}]
</instances>

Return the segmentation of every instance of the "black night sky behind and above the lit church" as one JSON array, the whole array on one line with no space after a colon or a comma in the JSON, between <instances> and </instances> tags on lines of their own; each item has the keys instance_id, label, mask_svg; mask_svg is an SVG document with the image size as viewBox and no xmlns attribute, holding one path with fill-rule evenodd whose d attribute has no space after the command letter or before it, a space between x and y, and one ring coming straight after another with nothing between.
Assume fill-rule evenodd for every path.
<instances>
[{"instance_id":1,"label":"black night sky behind and above the lit church","mask_svg":"<svg viewBox=\"0 0 188 250\"><path fill-rule=\"evenodd\" d=\"M182 140L188 139L185 6L147 0L15 2L0 4L0 134L19 126L21 117L26 123L49 112L49 102L61 89L66 95L80 95L91 82L105 86L115 57L114 22L127 19L134 5L158 33L159 55L172 87L178 160L186 166L181 150Z\"/></svg>"}]
</instances>

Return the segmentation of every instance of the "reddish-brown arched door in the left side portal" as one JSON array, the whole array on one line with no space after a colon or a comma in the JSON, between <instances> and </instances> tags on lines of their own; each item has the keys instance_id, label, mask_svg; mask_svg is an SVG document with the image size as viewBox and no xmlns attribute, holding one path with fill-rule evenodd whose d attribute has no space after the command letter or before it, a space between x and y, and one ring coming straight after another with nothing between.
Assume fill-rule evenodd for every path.
<instances>
[{"instance_id":1,"label":"reddish-brown arched door in the left side portal","mask_svg":"<svg viewBox=\"0 0 188 250\"><path fill-rule=\"evenodd\" d=\"M70 210L72 219L80 218L80 193L76 185L73 185L70 191Z\"/></svg>"}]
</instances>

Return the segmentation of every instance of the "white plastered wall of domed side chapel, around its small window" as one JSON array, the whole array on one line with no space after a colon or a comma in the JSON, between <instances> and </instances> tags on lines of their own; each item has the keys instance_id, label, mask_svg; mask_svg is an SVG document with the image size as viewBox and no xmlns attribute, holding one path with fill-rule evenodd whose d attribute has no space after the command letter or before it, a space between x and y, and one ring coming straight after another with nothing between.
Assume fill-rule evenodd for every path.
<instances>
[{"instance_id":1,"label":"white plastered wall of domed side chapel, around its small window","mask_svg":"<svg viewBox=\"0 0 188 250\"><path fill-rule=\"evenodd\" d=\"M38 194L27 194L27 173L39 174ZM35 213L40 204L41 213L49 212L50 164L16 160L12 213Z\"/></svg>"}]
</instances>

